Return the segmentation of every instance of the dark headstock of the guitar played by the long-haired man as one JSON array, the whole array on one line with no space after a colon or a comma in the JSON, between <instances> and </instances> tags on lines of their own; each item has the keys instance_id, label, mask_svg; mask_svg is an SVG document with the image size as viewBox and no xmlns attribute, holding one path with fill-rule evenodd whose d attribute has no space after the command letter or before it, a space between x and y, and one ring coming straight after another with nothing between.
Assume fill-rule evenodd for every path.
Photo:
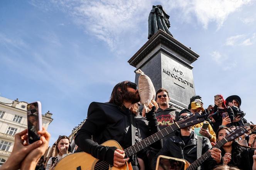
<instances>
[{"instance_id":1,"label":"dark headstock of the guitar played by the long-haired man","mask_svg":"<svg viewBox=\"0 0 256 170\"><path fill-rule=\"evenodd\" d=\"M199 113L194 113L184 118L184 120L178 121L178 125L180 128L186 128L198 123L204 122L204 115L200 115Z\"/></svg>"}]
</instances>

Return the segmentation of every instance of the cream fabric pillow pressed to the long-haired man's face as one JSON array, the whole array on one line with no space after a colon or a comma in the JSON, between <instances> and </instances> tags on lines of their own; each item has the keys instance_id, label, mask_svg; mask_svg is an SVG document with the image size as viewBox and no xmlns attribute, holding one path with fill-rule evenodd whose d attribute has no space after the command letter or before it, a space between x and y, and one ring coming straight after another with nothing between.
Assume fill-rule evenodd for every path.
<instances>
[{"instance_id":1,"label":"cream fabric pillow pressed to the long-haired man's face","mask_svg":"<svg viewBox=\"0 0 256 170\"><path fill-rule=\"evenodd\" d=\"M148 111L150 111L148 105L150 104L151 100L155 99L155 88L150 78L145 75L140 69L138 69L136 73L140 74L138 80L140 103L143 105L146 113L148 113Z\"/></svg>"}]
</instances>

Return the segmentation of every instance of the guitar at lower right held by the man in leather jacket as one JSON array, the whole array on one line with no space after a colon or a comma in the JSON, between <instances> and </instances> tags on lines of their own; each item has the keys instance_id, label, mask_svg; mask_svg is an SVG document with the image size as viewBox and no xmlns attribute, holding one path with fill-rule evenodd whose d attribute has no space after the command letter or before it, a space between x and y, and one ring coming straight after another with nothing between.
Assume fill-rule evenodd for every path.
<instances>
[{"instance_id":1,"label":"guitar at lower right held by the man in leather jacket","mask_svg":"<svg viewBox=\"0 0 256 170\"><path fill-rule=\"evenodd\" d=\"M232 130L232 132L230 132L226 137L222 138L212 148L221 148L223 145L225 145L225 143L235 140L236 138L242 136L244 133L247 133L247 132L248 132L248 130L246 130L246 128L244 128L243 126L236 127L236 129ZM197 170L197 168L209 157L211 157L211 153L209 151L207 151L200 158L198 158L195 162L193 162L191 165L189 165L186 168L186 170Z\"/></svg>"}]
</instances>

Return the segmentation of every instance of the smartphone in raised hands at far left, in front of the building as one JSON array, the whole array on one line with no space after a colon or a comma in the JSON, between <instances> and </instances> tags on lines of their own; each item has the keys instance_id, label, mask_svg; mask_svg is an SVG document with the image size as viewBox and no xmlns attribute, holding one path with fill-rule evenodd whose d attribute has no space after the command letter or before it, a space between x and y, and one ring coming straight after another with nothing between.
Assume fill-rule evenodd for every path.
<instances>
[{"instance_id":1,"label":"smartphone in raised hands at far left, in front of the building","mask_svg":"<svg viewBox=\"0 0 256 170\"><path fill-rule=\"evenodd\" d=\"M27 128L29 144L40 140L40 135L37 133L42 130L42 105L40 102L27 105Z\"/></svg>"}]
</instances>

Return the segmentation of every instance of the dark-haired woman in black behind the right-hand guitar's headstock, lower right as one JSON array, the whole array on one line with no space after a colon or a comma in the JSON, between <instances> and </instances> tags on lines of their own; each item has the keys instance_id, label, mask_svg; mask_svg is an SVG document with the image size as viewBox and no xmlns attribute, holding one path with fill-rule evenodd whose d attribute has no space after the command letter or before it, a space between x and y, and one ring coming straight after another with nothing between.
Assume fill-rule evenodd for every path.
<instances>
[{"instance_id":1,"label":"dark-haired woman in black behind the right-hand guitar's headstock, lower right","mask_svg":"<svg viewBox=\"0 0 256 170\"><path fill-rule=\"evenodd\" d=\"M226 137L231 130L221 127L217 130L217 141ZM239 169L249 170L253 167L254 148L241 146L236 140L225 143L221 148L221 155L224 165L236 166Z\"/></svg>"}]
</instances>

